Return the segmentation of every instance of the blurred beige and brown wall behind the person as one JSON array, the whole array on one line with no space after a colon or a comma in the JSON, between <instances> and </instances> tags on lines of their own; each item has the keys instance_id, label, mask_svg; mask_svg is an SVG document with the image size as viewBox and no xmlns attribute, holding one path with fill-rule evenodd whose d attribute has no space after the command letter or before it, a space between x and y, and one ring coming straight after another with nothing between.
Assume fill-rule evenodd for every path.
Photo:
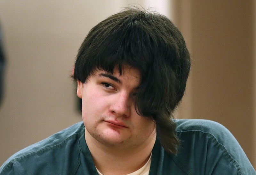
<instances>
[{"instance_id":1,"label":"blurred beige and brown wall behind the person","mask_svg":"<svg viewBox=\"0 0 256 175\"><path fill-rule=\"evenodd\" d=\"M254 0L0 0L6 64L0 165L81 121L70 74L89 30L129 4L155 7L180 28L193 59L177 118L228 128L256 167Z\"/></svg>"}]
</instances>

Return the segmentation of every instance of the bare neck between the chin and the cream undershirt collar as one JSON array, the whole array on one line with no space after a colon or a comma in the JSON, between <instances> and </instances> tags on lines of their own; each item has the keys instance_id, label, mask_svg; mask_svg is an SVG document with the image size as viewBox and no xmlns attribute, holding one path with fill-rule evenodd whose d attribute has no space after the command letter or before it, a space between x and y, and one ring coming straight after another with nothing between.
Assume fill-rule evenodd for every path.
<instances>
[{"instance_id":1,"label":"bare neck between the chin and the cream undershirt collar","mask_svg":"<svg viewBox=\"0 0 256 175\"><path fill-rule=\"evenodd\" d=\"M147 163L156 141L156 134L153 132L145 144L135 148L105 146L96 141L86 129L85 140L96 168L104 175L120 175L132 173Z\"/></svg>"}]
</instances>

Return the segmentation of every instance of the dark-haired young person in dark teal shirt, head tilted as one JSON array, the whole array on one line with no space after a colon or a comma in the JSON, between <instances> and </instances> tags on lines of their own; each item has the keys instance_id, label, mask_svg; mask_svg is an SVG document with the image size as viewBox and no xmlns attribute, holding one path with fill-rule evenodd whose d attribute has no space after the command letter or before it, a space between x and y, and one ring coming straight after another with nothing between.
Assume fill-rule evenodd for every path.
<instances>
[{"instance_id":1,"label":"dark-haired young person in dark teal shirt, head tilted","mask_svg":"<svg viewBox=\"0 0 256 175\"><path fill-rule=\"evenodd\" d=\"M76 57L83 122L16 153L0 174L256 174L222 125L173 119L189 69L165 16L134 8L108 17Z\"/></svg>"}]
</instances>

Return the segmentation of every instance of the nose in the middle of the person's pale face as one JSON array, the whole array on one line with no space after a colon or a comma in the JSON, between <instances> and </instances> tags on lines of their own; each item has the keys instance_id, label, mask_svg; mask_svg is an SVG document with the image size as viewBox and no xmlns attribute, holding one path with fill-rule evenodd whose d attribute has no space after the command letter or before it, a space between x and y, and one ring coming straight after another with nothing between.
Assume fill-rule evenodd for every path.
<instances>
[{"instance_id":1,"label":"nose in the middle of the person's pale face","mask_svg":"<svg viewBox=\"0 0 256 175\"><path fill-rule=\"evenodd\" d=\"M110 106L111 113L117 116L129 117L131 114L132 100L127 93L116 94Z\"/></svg>"}]
</instances>

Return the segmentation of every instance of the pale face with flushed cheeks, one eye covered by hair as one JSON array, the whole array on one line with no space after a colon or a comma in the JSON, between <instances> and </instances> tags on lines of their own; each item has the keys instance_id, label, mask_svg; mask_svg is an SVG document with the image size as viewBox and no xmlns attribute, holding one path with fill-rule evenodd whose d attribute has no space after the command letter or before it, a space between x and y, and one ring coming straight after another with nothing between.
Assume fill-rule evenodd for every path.
<instances>
[{"instance_id":1,"label":"pale face with flushed cheeks, one eye covered by hair","mask_svg":"<svg viewBox=\"0 0 256 175\"><path fill-rule=\"evenodd\" d=\"M86 141L91 138L105 146L132 148L156 137L155 122L135 111L139 85L139 70L128 66L121 76L116 68L113 74L97 70L84 84L78 81Z\"/></svg>"}]
</instances>

